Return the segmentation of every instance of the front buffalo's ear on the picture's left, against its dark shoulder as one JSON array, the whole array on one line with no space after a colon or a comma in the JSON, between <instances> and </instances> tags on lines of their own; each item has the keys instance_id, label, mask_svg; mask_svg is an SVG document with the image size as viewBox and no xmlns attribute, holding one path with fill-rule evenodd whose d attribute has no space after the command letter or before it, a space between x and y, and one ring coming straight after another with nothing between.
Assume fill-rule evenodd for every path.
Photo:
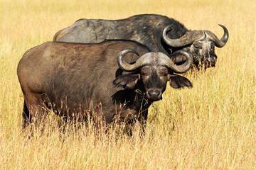
<instances>
[{"instance_id":1,"label":"front buffalo's ear on the picture's left, against its dark shoulder","mask_svg":"<svg viewBox=\"0 0 256 170\"><path fill-rule=\"evenodd\" d=\"M139 74L124 74L113 81L115 86L121 86L124 89L133 89L139 80Z\"/></svg>"}]
</instances>

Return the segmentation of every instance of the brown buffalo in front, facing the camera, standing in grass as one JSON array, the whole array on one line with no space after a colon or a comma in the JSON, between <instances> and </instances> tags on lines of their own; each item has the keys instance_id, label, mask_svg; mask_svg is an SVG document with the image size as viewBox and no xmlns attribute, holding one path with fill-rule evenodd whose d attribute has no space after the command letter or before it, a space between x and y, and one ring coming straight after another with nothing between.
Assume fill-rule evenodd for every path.
<instances>
[{"instance_id":1,"label":"brown buffalo in front, facing the camera, standing in grass","mask_svg":"<svg viewBox=\"0 0 256 170\"><path fill-rule=\"evenodd\" d=\"M84 120L87 113L102 115L105 123L146 120L147 109L162 98L167 81L175 89L192 86L174 74L187 72L192 56L183 50L178 54L186 57L184 64L130 40L33 47L17 69L24 96L23 128L31 121L40 124L47 108L70 120Z\"/></svg>"}]
</instances>

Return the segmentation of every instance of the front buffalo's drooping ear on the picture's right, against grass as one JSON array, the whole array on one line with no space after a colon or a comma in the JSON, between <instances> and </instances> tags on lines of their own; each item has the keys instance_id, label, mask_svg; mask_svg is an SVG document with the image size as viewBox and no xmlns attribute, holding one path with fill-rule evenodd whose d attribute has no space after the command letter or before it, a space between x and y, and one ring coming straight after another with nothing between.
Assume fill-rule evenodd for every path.
<instances>
[{"instance_id":1,"label":"front buffalo's drooping ear on the picture's right, against grass","mask_svg":"<svg viewBox=\"0 0 256 170\"><path fill-rule=\"evenodd\" d=\"M170 86L174 89L179 89L185 86L193 87L193 84L186 77L173 74L170 75Z\"/></svg>"}]
</instances>

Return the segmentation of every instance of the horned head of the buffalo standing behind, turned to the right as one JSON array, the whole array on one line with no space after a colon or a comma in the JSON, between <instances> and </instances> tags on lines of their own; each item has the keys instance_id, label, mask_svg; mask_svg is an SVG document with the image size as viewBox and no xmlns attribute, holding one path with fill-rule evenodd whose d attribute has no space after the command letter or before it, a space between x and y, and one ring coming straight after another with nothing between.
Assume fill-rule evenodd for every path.
<instances>
[{"instance_id":1,"label":"horned head of the buffalo standing behind, turned to the right","mask_svg":"<svg viewBox=\"0 0 256 170\"><path fill-rule=\"evenodd\" d=\"M185 33L181 38L171 39L166 33L171 30L171 26L167 26L163 31L163 40L171 47L180 47L183 50L191 52L193 62L196 67L204 65L207 67L215 67L217 55L215 54L215 46L223 47L228 41L228 29L219 24L224 30L224 35L220 40L209 30L191 30ZM175 57L176 63L183 62L184 57Z\"/></svg>"}]
</instances>

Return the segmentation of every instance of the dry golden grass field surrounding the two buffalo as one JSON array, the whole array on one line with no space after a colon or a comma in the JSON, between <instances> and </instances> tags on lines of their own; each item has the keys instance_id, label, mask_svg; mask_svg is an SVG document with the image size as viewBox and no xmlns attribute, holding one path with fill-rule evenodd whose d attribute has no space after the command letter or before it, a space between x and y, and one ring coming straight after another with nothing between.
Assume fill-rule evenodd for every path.
<instances>
[{"instance_id":1,"label":"dry golden grass field surrounding the two buffalo","mask_svg":"<svg viewBox=\"0 0 256 170\"><path fill-rule=\"evenodd\" d=\"M193 89L168 85L149 109L144 135L89 126L60 137L53 117L44 135L28 138L16 74L23 53L79 18L139 13L176 18L219 38L221 23L230 39L216 48L215 68L186 75ZM255 51L255 0L0 0L0 169L256 169Z\"/></svg>"}]
</instances>

